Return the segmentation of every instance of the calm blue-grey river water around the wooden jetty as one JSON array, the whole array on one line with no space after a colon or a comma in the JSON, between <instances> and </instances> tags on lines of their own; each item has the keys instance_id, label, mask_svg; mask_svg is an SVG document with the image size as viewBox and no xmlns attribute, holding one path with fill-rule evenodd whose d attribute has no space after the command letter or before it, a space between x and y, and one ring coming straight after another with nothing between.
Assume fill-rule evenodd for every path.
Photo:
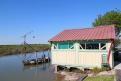
<instances>
[{"instance_id":1,"label":"calm blue-grey river water around the wooden jetty","mask_svg":"<svg viewBox=\"0 0 121 81\"><path fill-rule=\"evenodd\" d=\"M47 52L45 53L48 54ZM42 54L38 53L38 57ZM31 57L32 56L32 57ZM27 58L35 58L35 54L28 54ZM25 67L22 63L23 55L0 57L0 81L53 81L54 73L51 64Z\"/></svg>"}]
</instances>

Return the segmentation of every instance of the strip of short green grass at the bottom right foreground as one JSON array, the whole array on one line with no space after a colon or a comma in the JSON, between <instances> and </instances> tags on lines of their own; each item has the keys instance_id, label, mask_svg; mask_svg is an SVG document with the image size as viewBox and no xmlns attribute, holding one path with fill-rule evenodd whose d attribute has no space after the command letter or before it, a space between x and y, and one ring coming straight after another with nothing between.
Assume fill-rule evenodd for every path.
<instances>
[{"instance_id":1,"label":"strip of short green grass at the bottom right foreground","mask_svg":"<svg viewBox=\"0 0 121 81\"><path fill-rule=\"evenodd\" d=\"M84 81L114 81L114 76L87 77Z\"/></svg>"}]
</instances>

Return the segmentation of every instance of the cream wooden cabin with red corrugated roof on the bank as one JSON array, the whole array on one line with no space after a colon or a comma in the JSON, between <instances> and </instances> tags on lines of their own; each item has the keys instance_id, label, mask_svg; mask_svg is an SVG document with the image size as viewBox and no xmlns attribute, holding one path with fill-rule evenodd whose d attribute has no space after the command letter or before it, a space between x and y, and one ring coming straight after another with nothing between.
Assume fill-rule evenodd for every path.
<instances>
[{"instance_id":1,"label":"cream wooden cabin with red corrugated roof on the bank","mask_svg":"<svg viewBox=\"0 0 121 81\"><path fill-rule=\"evenodd\" d=\"M114 25L69 29L49 40L52 64L76 68L114 67Z\"/></svg>"}]
</instances>

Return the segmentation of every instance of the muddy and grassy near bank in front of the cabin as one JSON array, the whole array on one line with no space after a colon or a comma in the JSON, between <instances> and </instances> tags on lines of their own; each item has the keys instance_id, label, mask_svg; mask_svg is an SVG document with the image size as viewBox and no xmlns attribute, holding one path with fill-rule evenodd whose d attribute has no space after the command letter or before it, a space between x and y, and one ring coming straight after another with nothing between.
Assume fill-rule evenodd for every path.
<instances>
[{"instance_id":1,"label":"muddy and grassy near bank in front of the cabin","mask_svg":"<svg viewBox=\"0 0 121 81\"><path fill-rule=\"evenodd\" d=\"M59 71L55 75L54 81L114 81L114 70L102 71L97 74Z\"/></svg>"}]
</instances>

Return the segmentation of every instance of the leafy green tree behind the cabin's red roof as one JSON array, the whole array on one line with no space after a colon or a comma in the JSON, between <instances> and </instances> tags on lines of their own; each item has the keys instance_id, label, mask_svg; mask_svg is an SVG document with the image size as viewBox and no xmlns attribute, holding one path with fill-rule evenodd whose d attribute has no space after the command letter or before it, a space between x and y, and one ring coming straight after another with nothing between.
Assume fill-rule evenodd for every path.
<instances>
[{"instance_id":1,"label":"leafy green tree behind the cabin's red roof","mask_svg":"<svg viewBox=\"0 0 121 81\"><path fill-rule=\"evenodd\" d=\"M115 25L117 35L121 31L121 11L111 10L103 15L99 15L92 23L94 27L99 25Z\"/></svg>"}]
</instances>

